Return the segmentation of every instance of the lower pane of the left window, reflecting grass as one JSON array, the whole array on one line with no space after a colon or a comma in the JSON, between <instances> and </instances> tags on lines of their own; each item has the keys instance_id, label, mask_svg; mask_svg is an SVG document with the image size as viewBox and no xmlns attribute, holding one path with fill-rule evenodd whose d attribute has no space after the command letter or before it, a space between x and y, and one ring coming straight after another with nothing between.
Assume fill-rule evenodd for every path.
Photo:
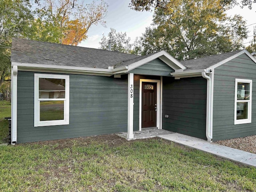
<instances>
[{"instance_id":1,"label":"lower pane of the left window, reflecting grass","mask_svg":"<svg viewBox=\"0 0 256 192\"><path fill-rule=\"evenodd\" d=\"M40 121L64 120L64 101L40 101Z\"/></svg>"}]
</instances>

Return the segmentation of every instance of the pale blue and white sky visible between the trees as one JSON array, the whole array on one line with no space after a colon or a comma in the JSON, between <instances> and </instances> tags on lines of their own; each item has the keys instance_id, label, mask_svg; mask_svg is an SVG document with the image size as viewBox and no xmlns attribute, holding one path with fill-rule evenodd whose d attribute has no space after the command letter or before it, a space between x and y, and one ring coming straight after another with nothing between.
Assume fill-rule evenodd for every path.
<instances>
[{"instance_id":1,"label":"pale blue and white sky visible between the trees","mask_svg":"<svg viewBox=\"0 0 256 192\"><path fill-rule=\"evenodd\" d=\"M90 3L92 0L87 0L86 3ZM97 2L97 1L96 1ZM131 43L136 37L142 36L146 27L152 23L153 12L137 12L131 10L128 5L130 0L105 0L108 4L108 14L105 18L106 27L98 24L93 25L87 33L88 38L82 41L78 46L89 48L100 48L99 42L104 36L108 36L110 28L114 28L116 32L126 32L127 36L131 38ZM256 5L250 10L247 7L240 8L236 6L232 10L228 10L228 16L234 16L234 14L240 14L247 22L247 28L250 31L248 33L248 39L244 40L244 45L248 46L250 40L252 40L253 26L256 26ZM251 25L252 24L252 25Z\"/></svg>"}]
</instances>

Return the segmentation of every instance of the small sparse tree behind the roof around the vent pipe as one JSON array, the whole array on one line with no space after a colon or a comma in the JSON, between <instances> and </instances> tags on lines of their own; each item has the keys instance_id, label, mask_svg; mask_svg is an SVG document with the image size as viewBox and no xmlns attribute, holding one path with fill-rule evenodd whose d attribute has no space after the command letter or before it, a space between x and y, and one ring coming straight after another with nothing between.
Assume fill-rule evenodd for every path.
<instances>
[{"instance_id":1,"label":"small sparse tree behind the roof around the vent pipe","mask_svg":"<svg viewBox=\"0 0 256 192\"><path fill-rule=\"evenodd\" d=\"M111 50L122 52L122 53L133 53L132 46L130 43L131 38L127 37L126 32L118 32L113 28L110 28L110 32L108 33L108 37L104 36L101 38L100 48L103 50L109 50L108 40L111 39Z\"/></svg>"}]
</instances>

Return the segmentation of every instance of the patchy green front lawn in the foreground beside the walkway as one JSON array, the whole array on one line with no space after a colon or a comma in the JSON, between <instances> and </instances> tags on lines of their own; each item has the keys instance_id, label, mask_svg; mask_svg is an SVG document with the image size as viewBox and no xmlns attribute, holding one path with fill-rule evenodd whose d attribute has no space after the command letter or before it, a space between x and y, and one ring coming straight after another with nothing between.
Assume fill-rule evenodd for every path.
<instances>
[{"instance_id":1,"label":"patchy green front lawn in the foreground beside the walkway","mask_svg":"<svg viewBox=\"0 0 256 192\"><path fill-rule=\"evenodd\" d=\"M160 138L94 136L1 146L0 191L256 191L256 168Z\"/></svg>"}]
</instances>

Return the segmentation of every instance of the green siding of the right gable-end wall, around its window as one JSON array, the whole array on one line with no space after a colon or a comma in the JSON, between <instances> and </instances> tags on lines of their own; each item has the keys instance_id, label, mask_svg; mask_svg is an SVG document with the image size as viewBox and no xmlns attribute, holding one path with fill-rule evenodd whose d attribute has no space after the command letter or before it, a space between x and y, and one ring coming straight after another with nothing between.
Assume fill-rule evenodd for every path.
<instances>
[{"instance_id":1,"label":"green siding of the right gable-end wall, around its window","mask_svg":"<svg viewBox=\"0 0 256 192\"><path fill-rule=\"evenodd\" d=\"M235 79L252 80L252 123L234 125ZM213 140L256 134L256 64L246 55L214 70Z\"/></svg>"}]
</instances>

